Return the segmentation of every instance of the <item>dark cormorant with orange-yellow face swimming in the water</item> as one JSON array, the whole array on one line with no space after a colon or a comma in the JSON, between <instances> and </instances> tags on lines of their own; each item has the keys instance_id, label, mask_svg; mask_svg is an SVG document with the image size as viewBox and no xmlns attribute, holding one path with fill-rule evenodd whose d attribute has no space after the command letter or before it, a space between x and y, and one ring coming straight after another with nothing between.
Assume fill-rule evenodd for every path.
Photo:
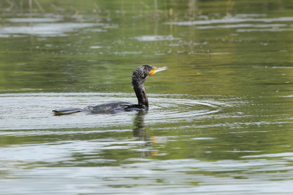
<instances>
[{"instance_id":1,"label":"dark cormorant with orange-yellow face swimming in the water","mask_svg":"<svg viewBox=\"0 0 293 195\"><path fill-rule=\"evenodd\" d=\"M96 106L86 106L85 108L65 108L60 110L53 110L55 115L65 115L72 113L101 113L111 111L133 111L133 110L147 110L149 108L149 101L144 90L144 82L147 77L160 72L162 70L169 70L167 66L155 67L151 65L142 65L133 70L132 86L136 94L138 104L117 101L110 103L102 103Z\"/></svg>"}]
</instances>

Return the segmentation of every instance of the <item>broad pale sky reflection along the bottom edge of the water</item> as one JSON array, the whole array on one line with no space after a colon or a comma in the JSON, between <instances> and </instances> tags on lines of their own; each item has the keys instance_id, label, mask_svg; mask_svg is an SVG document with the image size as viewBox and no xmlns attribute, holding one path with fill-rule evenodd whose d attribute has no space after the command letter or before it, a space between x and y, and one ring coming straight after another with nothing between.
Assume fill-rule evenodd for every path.
<instances>
[{"instance_id":1,"label":"broad pale sky reflection along the bottom edge of the water","mask_svg":"<svg viewBox=\"0 0 293 195\"><path fill-rule=\"evenodd\" d=\"M14 169L18 190L29 194L290 194L292 172L286 162L260 160L205 162L194 159L146 161L121 166ZM277 168L268 169L267 167ZM9 163L8 169L13 168ZM255 169L254 167L258 167ZM227 171L227 172L226 172ZM209 173L213 173L210 175ZM44 177L46 175L46 177ZM238 178L238 179L236 179ZM241 179L240 179L241 178ZM287 181L279 180L287 179ZM44 182L44 179L46 182ZM50 183L52 187L47 188ZM14 185L4 180L2 194L14 194ZM5 186L5 187L4 187ZM7 190L9 189L9 190Z\"/></svg>"}]
</instances>

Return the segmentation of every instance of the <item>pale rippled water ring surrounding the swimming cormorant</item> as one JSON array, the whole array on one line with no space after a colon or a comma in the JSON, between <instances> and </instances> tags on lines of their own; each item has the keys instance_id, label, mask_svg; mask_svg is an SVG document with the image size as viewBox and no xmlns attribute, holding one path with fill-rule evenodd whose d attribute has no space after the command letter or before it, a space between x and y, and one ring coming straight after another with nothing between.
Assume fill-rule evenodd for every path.
<instances>
[{"instance_id":1,"label":"pale rippled water ring surrounding the swimming cormorant","mask_svg":"<svg viewBox=\"0 0 293 195\"><path fill-rule=\"evenodd\" d=\"M127 126L132 124L136 112L118 112L115 114L81 115L72 114L56 117L51 111L57 108L84 108L110 101L137 102L134 94L125 93L25 93L1 94L1 130L59 129L107 127L111 125ZM168 96L164 97L164 96ZM233 106L245 104L235 99L187 97L183 95L149 94L150 108L145 120L153 122L178 122L210 114L228 113ZM98 120L97 118L98 117ZM76 120L78 118L78 120ZM176 119L176 120L174 120ZM15 121L18 121L15 123ZM100 121L107 121L101 123Z\"/></svg>"}]
</instances>

